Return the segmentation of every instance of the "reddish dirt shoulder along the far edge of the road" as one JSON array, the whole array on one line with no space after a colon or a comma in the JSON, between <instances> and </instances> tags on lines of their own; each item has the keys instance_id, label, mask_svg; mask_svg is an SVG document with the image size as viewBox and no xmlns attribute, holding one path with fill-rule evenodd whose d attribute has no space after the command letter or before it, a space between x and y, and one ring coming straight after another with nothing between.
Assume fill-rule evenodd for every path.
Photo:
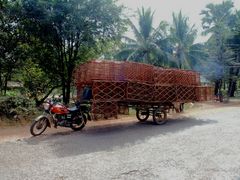
<instances>
[{"instance_id":1,"label":"reddish dirt shoulder along the far edge of the road","mask_svg":"<svg viewBox=\"0 0 240 180\"><path fill-rule=\"evenodd\" d=\"M180 117L189 117L189 116L197 116L198 114L206 114L216 111L221 111L222 109L228 107L240 107L240 101L231 101L229 103L219 103L219 102L205 102L205 103L195 103L186 105L186 109L184 113L170 113L170 119L176 119ZM92 128L99 128L104 126L112 126L116 124L131 124L137 121L134 115L131 116L121 116L118 119L111 120L100 120L100 121L89 121L87 126L84 128L85 131ZM21 126L0 126L0 143L6 141L16 141L21 140L23 138L30 138L31 134L29 132L30 123L21 125ZM61 132L69 132L72 131L69 128L59 127L48 128L44 134L55 134Z\"/></svg>"}]
</instances>

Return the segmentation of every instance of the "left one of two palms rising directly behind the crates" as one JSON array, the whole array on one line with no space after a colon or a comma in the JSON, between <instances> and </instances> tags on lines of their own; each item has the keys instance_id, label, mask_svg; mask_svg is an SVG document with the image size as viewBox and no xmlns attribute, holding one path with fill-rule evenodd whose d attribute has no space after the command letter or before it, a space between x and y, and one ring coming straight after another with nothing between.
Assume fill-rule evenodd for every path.
<instances>
[{"instance_id":1,"label":"left one of two palms rising directly behind the crates","mask_svg":"<svg viewBox=\"0 0 240 180\"><path fill-rule=\"evenodd\" d=\"M162 65L170 53L165 52L159 45L163 40L167 41L167 23L161 22L155 29L153 28L153 15L151 9L138 9L137 28L130 20L129 25L134 33L134 38L124 37L125 45L121 49L118 57L125 60L137 60L139 62ZM167 48L167 47L166 47ZM161 58L160 58L161 57ZM159 59L162 59L160 62ZM165 62L166 63L166 62Z\"/></svg>"}]
</instances>

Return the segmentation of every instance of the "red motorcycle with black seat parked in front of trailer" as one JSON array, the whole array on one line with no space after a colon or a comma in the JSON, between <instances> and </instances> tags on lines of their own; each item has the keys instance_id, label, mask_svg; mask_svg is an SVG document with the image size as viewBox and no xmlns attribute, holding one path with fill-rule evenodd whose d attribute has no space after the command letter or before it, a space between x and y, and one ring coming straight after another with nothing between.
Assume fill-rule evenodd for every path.
<instances>
[{"instance_id":1,"label":"red motorcycle with black seat parked in front of trailer","mask_svg":"<svg viewBox=\"0 0 240 180\"><path fill-rule=\"evenodd\" d=\"M82 105L79 102L75 103L72 108L67 108L61 103L54 103L49 100L43 104L44 113L38 116L30 127L30 132L33 136L42 134L47 127L53 125L69 127L74 131L79 131L84 128L87 120L91 120L89 107Z\"/></svg>"}]
</instances>

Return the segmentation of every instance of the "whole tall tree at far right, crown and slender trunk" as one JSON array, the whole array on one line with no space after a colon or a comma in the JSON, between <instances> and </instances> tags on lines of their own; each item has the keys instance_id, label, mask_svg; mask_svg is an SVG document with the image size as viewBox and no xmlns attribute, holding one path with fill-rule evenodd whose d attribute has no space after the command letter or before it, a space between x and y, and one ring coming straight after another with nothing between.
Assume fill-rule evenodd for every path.
<instances>
[{"instance_id":1,"label":"whole tall tree at far right, crown and slender trunk","mask_svg":"<svg viewBox=\"0 0 240 180\"><path fill-rule=\"evenodd\" d=\"M215 95L218 95L222 87L222 79L224 75L224 67L219 72L219 66L225 66L229 54L226 48L226 39L230 32L231 24L233 23L233 8L232 1L223 1L221 4L208 4L206 9L202 10L202 26L204 34L210 34L208 40L210 58L219 64L215 67Z\"/></svg>"}]
</instances>

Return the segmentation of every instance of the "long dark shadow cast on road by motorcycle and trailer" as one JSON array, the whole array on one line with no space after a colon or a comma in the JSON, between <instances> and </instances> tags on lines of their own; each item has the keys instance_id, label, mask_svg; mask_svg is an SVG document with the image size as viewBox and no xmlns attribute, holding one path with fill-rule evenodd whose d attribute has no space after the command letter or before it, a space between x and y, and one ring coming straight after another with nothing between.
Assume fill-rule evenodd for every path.
<instances>
[{"instance_id":1,"label":"long dark shadow cast on road by motorcycle and trailer","mask_svg":"<svg viewBox=\"0 0 240 180\"><path fill-rule=\"evenodd\" d=\"M124 146L142 143L152 137L177 133L194 126L203 126L217 123L214 120L194 118L170 119L163 126L129 122L124 124L90 127L79 132L67 132L42 135L25 139L30 145L47 143L58 157L75 156L99 151L111 151Z\"/></svg>"}]
</instances>

